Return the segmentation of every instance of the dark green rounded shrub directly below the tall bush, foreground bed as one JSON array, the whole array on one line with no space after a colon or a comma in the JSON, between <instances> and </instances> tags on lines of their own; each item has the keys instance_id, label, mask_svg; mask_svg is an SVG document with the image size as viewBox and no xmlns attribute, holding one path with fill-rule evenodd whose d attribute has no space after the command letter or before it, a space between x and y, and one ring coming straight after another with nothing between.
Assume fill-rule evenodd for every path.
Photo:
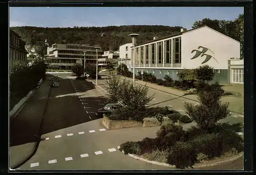
<instances>
[{"instance_id":1,"label":"dark green rounded shrub directly below the tall bush, foreground bed","mask_svg":"<svg viewBox=\"0 0 256 175\"><path fill-rule=\"evenodd\" d=\"M219 157L222 154L219 147L219 139L215 133L199 135L191 141L191 144L195 147L197 154L203 153L209 159Z\"/></svg>"}]
</instances>

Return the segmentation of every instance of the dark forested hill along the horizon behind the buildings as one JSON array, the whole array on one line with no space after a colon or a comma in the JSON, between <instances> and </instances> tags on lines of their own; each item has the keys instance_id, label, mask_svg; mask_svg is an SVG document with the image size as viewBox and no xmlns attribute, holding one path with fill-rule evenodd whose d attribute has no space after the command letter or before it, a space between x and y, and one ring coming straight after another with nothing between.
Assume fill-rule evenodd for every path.
<instances>
[{"instance_id":1,"label":"dark forested hill along the horizon behind the buildings","mask_svg":"<svg viewBox=\"0 0 256 175\"><path fill-rule=\"evenodd\" d=\"M182 27L170 26L108 26L74 28L12 27L27 45L41 45L47 38L49 44L73 43L100 45L103 51L119 49L119 45L131 42L131 33L138 33L137 42L152 40L154 36L164 37L180 32Z\"/></svg>"}]
</instances>

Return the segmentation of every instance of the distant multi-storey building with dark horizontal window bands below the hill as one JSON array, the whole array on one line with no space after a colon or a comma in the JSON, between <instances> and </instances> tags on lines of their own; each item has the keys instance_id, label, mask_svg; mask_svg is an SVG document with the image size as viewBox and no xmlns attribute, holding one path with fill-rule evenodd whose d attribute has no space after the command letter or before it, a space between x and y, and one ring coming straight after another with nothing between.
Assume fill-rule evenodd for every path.
<instances>
[{"instance_id":1,"label":"distant multi-storey building with dark horizontal window bands below the hill","mask_svg":"<svg viewBox=\"0 0 256 175\"><path fill-rule=\"evenodd\" d=\"M84 64L84 53L86 51L86 64L96 64L97 52L95 46L86 44L53 44L47 47L47 63L49 69L69 70L76 63ZM98 57L103 52L98 48Z\"/></svg>"}]
</instances>

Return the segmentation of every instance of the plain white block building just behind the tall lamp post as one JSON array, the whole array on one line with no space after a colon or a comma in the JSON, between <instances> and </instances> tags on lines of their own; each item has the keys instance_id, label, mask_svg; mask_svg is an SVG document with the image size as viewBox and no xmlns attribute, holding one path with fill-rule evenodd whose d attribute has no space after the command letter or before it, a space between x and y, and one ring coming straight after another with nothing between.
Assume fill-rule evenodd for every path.
<instances>
[{"instance_id":1,"label":"plain white block building just behind the tall lamp post","mask_svg":"<svg viewBox=\"0 0 256 175\"><path fill-rule=\"evenodd\" d=\"M133 43L126 43L119 46L119 59L118 65L125 64L131 70L131 58Z\"/></svg>"}]
</instances>

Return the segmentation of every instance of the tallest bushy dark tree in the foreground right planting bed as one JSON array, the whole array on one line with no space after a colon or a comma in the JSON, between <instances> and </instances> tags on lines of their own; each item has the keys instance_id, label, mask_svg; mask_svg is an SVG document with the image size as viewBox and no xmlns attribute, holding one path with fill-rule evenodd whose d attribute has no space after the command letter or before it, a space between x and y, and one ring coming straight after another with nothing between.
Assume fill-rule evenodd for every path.
<instances>
[{"instance_id":1,"label":"tallest bushy dark tree in the foreground right planting bed","mask_svg":"<svg viewBox=\"0 0 256 175\"><path fill-rule=\"evenodd\" d=\"M212 131L220 119L229 115L228 103L221 104L220 101L223 93L224 90L218 82L212 85L204 84L204 87L198 92L198 99L201 104L193 106L185 103L186 113L201 130Z\"/></svg>"}]
</instances>

